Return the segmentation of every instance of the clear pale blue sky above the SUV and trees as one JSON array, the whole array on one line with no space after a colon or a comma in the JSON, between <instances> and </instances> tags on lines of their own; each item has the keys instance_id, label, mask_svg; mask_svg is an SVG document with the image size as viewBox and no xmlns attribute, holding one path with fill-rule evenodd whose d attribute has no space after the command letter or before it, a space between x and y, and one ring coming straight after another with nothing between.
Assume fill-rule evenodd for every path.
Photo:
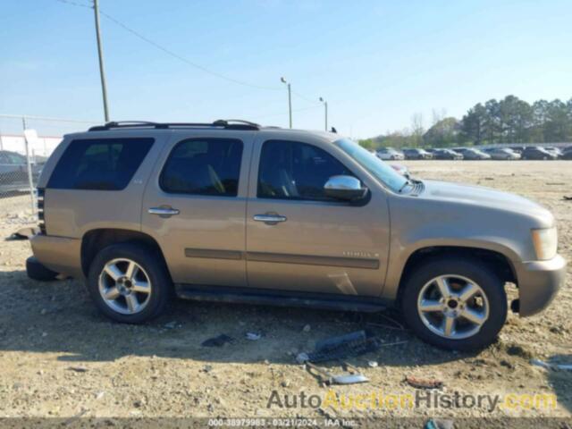
<instances>
[{"instance_id":1,"label":"clear pale blue sky above the SUV and trees","mask_svg":"<svg viewBox=\"0 0 572 429\"><path fill-rule=\"evenodd\" d=\"M94 13L81 6L89 4L0 0L0 114L104 121ZM100 8L115 20L101 17L114 121L287 127L282 76L294 92L294 128L324 128L324 97L330 126L356 139L403 130L413 114L427 128L433 110L460 118L509 94L572 97L570 0L100 0Z\"/></svg>"}]
</instances>

